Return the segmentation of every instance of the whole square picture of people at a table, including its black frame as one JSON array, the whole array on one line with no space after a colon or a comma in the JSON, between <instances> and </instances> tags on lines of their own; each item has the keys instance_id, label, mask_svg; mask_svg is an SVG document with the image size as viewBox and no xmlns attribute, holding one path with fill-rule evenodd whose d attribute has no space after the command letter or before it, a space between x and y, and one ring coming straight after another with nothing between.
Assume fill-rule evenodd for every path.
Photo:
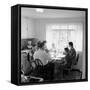
<instances>
[{"instance_id":1,"label":"whole square picture of people at a table, including its black frame","mask_svg":"<svg viewBox=\"0 0 90 90\"><path fill-rule=\"evenodd\" d=\"M88 9L11 7L11 83L88 81Z\"/></svg>"}]
</instances>

